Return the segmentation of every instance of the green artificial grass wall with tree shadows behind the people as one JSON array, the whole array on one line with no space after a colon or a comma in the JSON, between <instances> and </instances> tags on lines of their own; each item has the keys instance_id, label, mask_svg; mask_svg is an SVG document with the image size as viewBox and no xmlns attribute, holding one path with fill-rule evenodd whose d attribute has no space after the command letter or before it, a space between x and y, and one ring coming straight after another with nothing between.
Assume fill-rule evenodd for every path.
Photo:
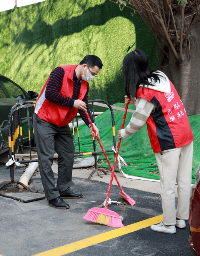
<instances>
[{"instance_id":1,"label":"green artificial grass wall with tree shadows behind the people","mask_svg":"<svg viewBox=\"0 0 200 256\"><path fill-rule=\"evenodd\" d=\"M89 83L88 98L123 102L124 56L140 48L153 69L158 62L152 32L131 12L121 12L108 0L46 0L1 12L0 74L40 93L55 67L78 64L85 55L95 54L103 68Z\"/></svg>"}]
</instances>

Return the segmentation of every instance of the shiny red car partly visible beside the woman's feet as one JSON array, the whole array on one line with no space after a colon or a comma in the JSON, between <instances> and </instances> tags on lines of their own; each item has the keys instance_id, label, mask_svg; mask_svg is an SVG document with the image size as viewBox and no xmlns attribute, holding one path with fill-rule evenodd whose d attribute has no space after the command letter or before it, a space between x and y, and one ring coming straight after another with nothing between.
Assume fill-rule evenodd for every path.
<instances>
[{"instance_id":1,"label":"shiny red car partly visible beside the woman's feet","mask_svg":"<svg viewBox=\"0 0 200 256\"><path fill-rule=\"evenodd\" d=\"M195 256L200 256L200 164L190 198L190 236L189 245Z\"/></svg>"}]
</instances>

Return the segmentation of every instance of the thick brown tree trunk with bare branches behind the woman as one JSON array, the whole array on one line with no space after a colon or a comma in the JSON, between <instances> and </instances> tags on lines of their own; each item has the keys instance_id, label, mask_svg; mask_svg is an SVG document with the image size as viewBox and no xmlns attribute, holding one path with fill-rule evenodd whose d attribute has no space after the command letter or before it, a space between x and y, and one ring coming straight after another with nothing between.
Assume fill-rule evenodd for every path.
<instances>
[{"instance_id":1,"label":"thick brown tree trunk with bare branches behind the woman","mask_svg":"<svg viewBox=\"0 0 200 256\"><path fill-rule=\"evenodd\" d=\"M200 0L120 1L124 3L152 30L159 46L159 67L174 84L187 114L200 114Z\"/></svg>"}]
</instances>

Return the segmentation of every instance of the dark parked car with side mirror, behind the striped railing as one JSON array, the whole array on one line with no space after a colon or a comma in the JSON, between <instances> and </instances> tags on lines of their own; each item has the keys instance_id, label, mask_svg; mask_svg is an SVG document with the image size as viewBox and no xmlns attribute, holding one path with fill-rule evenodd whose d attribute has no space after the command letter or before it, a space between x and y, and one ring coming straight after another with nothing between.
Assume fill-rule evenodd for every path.
<instances>
[{"instance_id":1,"label":"dark parked car with side mirror, behind the striped railing","mask_svg":"<svg viewBox=\"0 0 200 256\"><path fill-rule=\"evenodd\" d=\"M37 97L37 92L26 92L8 77L0 75L0 154L8 150L8 115L13 105L22 105L23 102ZM23 114L25 112L22 111Z\"/></svg>"}]
</instances>

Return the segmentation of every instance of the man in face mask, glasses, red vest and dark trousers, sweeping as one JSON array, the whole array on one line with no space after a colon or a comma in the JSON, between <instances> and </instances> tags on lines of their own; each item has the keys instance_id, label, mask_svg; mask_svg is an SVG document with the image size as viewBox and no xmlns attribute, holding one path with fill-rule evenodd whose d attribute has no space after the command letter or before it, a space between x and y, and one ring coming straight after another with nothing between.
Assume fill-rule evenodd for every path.
<instances>
[{"instance_id":1,"label":"man in face mask, glasses, red vest and dark trousers, sweeping","mask_svg":"<svg viewBox=\"0 0 200 256\"><path fill-rule=\"evenodd\" d=\"M95 136L85 111L88 108L88 82L97 77L102 61L95 55L87 55L78 65L64 65L55 68L40 93L33 115L33 128L38 153L40 175L48 205L67 209L63 199L80 198L70 189L74 159L74 144L69 122L79 111L90 127L90 136ZM92 122L94 122L92 120ZM99 135L98 128L95 130ZM58 153L58 181L52 171L53 154Z\"/></svg>"}]
</instances>

